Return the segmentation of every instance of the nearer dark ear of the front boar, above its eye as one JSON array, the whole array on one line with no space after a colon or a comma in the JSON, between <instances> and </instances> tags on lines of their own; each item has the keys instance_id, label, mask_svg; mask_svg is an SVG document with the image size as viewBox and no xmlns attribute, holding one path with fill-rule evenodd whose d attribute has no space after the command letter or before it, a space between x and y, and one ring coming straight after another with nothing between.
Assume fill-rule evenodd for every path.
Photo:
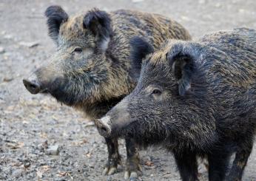
<instances>
[{"instance_id":1,"label":"nearer dark ear of the front boar, above its eye","mask_svg":"<svg viewBox=\"0 0 256 181\"><path fill-rule=\"evenodd\" d=\"M195 60L192 55L178 53L167 53L169 66L172 67L172 73L178 81L178 92L181 96L191 88L192 75L195 72Z\"/></svg>"}]
</instances>

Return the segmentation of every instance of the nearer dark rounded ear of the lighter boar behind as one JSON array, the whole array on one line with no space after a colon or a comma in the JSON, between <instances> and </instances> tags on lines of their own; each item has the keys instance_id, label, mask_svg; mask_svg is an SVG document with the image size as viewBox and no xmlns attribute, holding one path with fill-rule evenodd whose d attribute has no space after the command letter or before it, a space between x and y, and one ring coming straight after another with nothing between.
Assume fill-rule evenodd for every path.
<instances>
[{"instance_id":1,"label":"nearer dark rounded ear of the lighter boar behind","mask_svg":"<svg viewBox=\"0 0 256 181\"><path fill-rule=\"evenodd\" d=\"M84 16L83 25L95 35L97 41L109 41L112 36L111 19L105 11L91 10Z\"/></svg>"}]
</instances>

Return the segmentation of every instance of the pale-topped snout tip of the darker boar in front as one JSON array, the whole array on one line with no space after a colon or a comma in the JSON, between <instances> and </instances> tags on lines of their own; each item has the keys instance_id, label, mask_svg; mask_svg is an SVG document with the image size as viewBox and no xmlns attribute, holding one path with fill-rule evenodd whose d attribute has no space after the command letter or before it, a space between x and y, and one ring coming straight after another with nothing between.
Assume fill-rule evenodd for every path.
<instances>
[{"instance_id":1,"label":"pale-topped snout tip of the darker boar in front","mask_svg":"<svg viewBox=\"0 0 256 181\"><path fill-rule=\"evenodd\" d=\"M99 134L103 137L110 137L111 135L111 128L110 128L110 117L104 116L101 119L95 120L95 125L98 128Z\"/></svg>"}]
</instances>

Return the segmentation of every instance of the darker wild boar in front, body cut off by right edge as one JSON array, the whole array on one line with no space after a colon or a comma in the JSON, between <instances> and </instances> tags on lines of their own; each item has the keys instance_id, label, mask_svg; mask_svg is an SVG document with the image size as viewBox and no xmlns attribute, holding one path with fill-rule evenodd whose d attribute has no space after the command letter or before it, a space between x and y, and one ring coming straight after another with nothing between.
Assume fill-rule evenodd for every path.
<instances>
[{"instance_id":1,"label":"darker wild boar in front, body cut off by right edge","mask_svg":"<svg viewBox=\"0 0 256 181\"><path fill-rule=\"evenodd\" d=\"M241 180L256 130L256 31L167 41L144 58L132 93L95 123L104 137L166 147L182 180L198 180L203 156L209 180Z\"/></svg>"}]
</instances>

